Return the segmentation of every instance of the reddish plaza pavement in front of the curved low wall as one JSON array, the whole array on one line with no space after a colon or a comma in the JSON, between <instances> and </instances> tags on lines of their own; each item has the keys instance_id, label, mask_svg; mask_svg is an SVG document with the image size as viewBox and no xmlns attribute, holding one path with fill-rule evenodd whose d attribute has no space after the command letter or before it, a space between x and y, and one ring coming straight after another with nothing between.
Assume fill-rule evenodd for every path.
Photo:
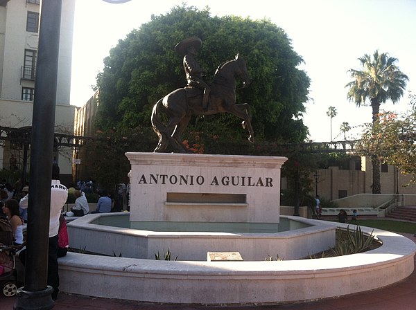
<instances>
[{"instance_id":1,"label":"reddish plaza pavement in front of the curved low wall","mask_svg":"<svg viewBox=\"0 0 416 310\"><path fill-rule=\"evenodd\" d=\"M416 242L411 234L401 234ZM416 263L416 259L415 259ZM416 267L416 264L415 264ZM416 268L415 268L416 269ZM139 289L139 288L138 288ZM0 296L0 310L13 309L17 298ZM416 271L405 280L383 289L356 293L340 298L315 302L264 306L202 306L180 304L149 304L128 300L109 300L60 293L54 310L414 310L416 309Z\"/></svg>"}]
</instances>

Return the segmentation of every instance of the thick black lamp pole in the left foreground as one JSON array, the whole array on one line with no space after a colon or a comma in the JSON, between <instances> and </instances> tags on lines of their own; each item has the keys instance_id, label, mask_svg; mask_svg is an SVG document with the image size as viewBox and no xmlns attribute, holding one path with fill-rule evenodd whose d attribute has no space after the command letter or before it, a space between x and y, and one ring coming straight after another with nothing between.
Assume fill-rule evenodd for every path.
<instances>
[{"instance_id":1,"label":"thick black lamp pole in the left foreground","mask_svg":"<svg viewBox=\"0 0 416 310\"><path fill-rule=\"evenodd\" d=\"M52 309L47 286L49 212L62 0L42 0L33 102L26 276L14 309Z\"/></svg>"}]
</instances>

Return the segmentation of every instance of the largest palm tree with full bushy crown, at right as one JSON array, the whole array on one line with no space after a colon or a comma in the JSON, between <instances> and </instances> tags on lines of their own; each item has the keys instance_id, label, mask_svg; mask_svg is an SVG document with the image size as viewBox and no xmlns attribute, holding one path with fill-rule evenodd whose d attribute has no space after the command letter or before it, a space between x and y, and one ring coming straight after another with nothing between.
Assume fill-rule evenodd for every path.
<instances>
[{"instance_id":1,"label":"largest palm tree with full bushy crown, at right","mask_svg":"<svg viewBox=\"0 0 416 310\"><path fill-rule=\"evenodd\" d=\"M349 87L347 98L354 101L357 107L365 105L365 100L370 100L372 107L372 123L379 120L380 104L386 100L393 103L399 101L404 94L408 76L395 65L397 58L389 57L388 53L375 51L374 55L365 54L358 58L363 71L350 69L348 72L353 79L345 87ZM380 185L380 161L377 156L372 156L373 166L373 194L381 193Z\"/></svg>"}]
</instances>

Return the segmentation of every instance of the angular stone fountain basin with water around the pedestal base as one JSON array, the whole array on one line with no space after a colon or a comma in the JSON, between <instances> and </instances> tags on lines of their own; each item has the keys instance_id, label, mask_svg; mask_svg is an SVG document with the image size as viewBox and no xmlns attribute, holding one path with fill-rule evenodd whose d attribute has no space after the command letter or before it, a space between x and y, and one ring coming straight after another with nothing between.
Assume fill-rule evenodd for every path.
<instances>
[{"instance_id":1,"label":"angular stone fountain basin with water around the pedestal base","mask_svg":"<svg viewBox=\"0 0 416 310\"><path fill-rule=\"evenodd\" d=\"M128 212L80 217L68 224L70 246L141 259L170 249L179 260L196 261L206 261L207 252L236 251L243 260L261 261L269 255L299 259L335 244L335 227L307 224L300 217L281 217L279 224L146 221L132 223L136 229L130 229L128 219Z\"/></svg>"}]
</instances>

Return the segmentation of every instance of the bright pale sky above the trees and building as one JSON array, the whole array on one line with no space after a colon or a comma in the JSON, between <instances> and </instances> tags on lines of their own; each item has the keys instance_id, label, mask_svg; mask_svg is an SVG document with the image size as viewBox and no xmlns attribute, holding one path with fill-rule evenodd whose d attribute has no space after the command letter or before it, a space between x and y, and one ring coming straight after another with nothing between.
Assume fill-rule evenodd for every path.
<instances>
[{"instance_id":1,"label":"bright pale sky above the trees and building","mask_svg":"<svg viewBox=\"0 0 416 310\"><path fill-rule=\"evenodd\" d=\"M386 102L381 110L404 112L409 108L408 91L416 93L415 0L130 0L117 4L76 0L71 104L83 106L93 95L103 59L119 39L148 23L152 15L165 15L182 3L208 7L212 17L270 19L286 31L294 51L304 60L299 69L311 79L303 116L309 140L331 140L331 128L332 140L344 140L343 122L353 127L346 138L359 138L363 124L371 122L371 107L356 107L347 100L345 88L352 80L347 71L360 70L358 58L365 54L388 53L397 58L397 66L409 78L400 102ZM337 112L332 127L329 107Z\"/></svg>"}]
</instances>

